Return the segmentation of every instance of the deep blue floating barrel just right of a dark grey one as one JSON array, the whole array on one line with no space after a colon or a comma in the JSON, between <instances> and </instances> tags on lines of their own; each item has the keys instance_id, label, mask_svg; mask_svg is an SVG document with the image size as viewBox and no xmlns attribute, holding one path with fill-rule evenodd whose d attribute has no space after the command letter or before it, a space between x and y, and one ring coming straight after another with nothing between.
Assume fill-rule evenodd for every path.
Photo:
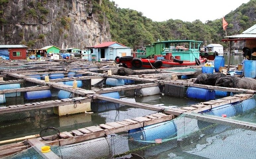
<instances>
[{"instance_id":1,"label":"deep blue floating barrel just right of a dark grey one","mask_svg":"<svg viewBox=\"0 0 256 159\"><path fill-rule=\"evenodd\" d=\"M210 101L215 99L215 91L205 88L188 87L187 97L192 99Z\"/></svg>"}]
</instances>

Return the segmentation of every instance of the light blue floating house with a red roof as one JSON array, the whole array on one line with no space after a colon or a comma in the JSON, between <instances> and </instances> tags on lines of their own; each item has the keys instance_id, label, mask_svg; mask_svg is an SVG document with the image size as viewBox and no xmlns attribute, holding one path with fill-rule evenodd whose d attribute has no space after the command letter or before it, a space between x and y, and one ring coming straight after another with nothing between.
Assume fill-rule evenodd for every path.
<instances>
[{"instance_id":1,"label":"light blue floating house with a red roof","mask_svg":"<svg viewBox=\"0 0 256 159\"><path fill-rule=\"evenodd\" d=\"M92 59L114 60L116 56L131 56L131 47L117 42L105 42L91 48Z\"/></svg>"}]
</instances>

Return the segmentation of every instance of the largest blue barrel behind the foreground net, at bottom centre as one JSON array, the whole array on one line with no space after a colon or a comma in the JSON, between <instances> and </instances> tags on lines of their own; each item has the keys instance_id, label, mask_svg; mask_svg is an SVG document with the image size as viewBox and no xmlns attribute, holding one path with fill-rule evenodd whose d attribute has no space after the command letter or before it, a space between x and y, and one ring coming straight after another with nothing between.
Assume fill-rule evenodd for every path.
<instances>
[{"instance_id":1,"label":"largest blue barrel behind the foreground net, at bottom centre","mask_svg":"<svg viewBox=\"0 0 256 159\"><path fill-rule=\"evenodd\" d=\"M144 130L144 131L142 131ZM165 121L128 131L135 141L156 141L170 139L177 136L177 127L173 121Z\"/></svg>"}]
</instances>

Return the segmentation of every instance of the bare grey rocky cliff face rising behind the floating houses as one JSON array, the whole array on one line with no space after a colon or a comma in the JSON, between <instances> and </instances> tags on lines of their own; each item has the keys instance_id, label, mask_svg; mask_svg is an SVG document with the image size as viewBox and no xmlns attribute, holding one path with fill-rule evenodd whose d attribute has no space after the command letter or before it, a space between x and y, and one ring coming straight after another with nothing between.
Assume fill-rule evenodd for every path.
<instances>
[{"instance_id":1,"label":"bare grey rocky cliff face rising behind the floating houses","mask_svg":"<svg viewBox=\"0 0 256 159\"><path fill-rule=\"evenodd\" d=\"M90 0L9 0L3 8L0 45L83 49L111 41L105 16L100 15L99 23L93 7Z\"/></svg>"}]
</instances>

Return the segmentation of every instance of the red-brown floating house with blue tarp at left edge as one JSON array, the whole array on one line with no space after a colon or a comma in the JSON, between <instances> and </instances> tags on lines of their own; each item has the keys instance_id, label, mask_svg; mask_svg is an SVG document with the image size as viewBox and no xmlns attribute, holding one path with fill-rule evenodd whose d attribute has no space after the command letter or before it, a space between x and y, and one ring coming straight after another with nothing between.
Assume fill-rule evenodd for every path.
<instances>
[{"instance_id":1,"label":"red-brown floating house with blue tarp at left edge","mask_svg":"<svg viewBox=\"0 0 256 159\"><path fill-rule=\"evenodd\" d=\"M0 45L0 56L12 60L26 59L27 48L25 45Z\"/></svg>"}]
</instances>

